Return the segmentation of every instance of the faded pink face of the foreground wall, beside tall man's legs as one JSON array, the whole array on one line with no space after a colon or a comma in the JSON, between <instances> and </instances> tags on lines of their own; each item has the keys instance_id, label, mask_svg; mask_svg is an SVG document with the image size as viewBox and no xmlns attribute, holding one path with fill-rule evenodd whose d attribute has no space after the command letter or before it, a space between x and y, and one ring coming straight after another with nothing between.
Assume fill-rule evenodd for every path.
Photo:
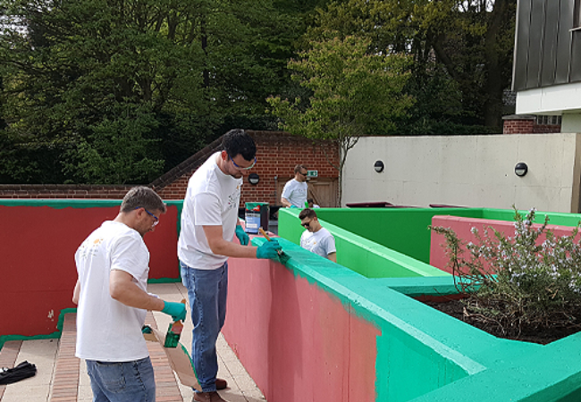
<instances>
[{"instance_id":1,"label":"faded pink face of the foreground wall, beside tall man's legs","mask_svg":"<svg viewBox=\"0 0 581 402\"><path fill-rule=\"evenodd\" d=\"M282 264L230 259L223 334L269 401L375 401L380 331Z\"/></svg>"}]
</instances>

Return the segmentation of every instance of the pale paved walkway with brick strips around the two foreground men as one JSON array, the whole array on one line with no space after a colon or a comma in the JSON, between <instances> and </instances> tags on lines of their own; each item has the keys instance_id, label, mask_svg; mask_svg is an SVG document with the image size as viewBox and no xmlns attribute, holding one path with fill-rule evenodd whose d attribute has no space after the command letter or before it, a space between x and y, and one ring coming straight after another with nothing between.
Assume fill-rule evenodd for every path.
<instances>
[{"instance_id":1,"label":"pale paved walkway with brick strips around the two foreground men","mask_svg":"<svg viewBox=\"0 0 581 402\"><path fill-rule=\"evenodd\" d=\"M181 283L150 284L148 290L168 301L187 299ZM189 310L189 306L188 306ZM167 329L171 318L162 313L148 314L147 323ZM184 324L181 343L191 348L191 320ZM0 385L0 402L90 402L92 393L84 362L74 357L76 328L74 315L67 314L61 339L9 341L0 351L0 367L13 367L24 360L36 364L38 373L27 380ZM154 342L147 342L156 370L156 401L190 401L193 391L180 384L169 368L164 351ZM230 402L265 402L260 389L222 335L218 339L218 376L228 381L228 389L220 391Z\"/></svg>"}]
</instances>

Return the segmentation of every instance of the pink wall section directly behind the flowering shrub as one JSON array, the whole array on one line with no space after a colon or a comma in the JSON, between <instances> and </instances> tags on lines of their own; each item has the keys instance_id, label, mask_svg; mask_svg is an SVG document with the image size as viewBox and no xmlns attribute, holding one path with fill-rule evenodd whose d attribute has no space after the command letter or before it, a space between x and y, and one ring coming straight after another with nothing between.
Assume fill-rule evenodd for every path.
<instances>
[{"instance_id":1,"label":"pink wall section directly behind the flowering shrub","mask_svg":"<svg viewBox=\"0 0 581 402\"><path fill-rule=\"evenodd\" d=\"M442 226L454 230L459 239L466 242L476 242L476 237L472 233L472 228L476 228L481 236L484 235L484 230L492 226L494 229L504 233L505 236L514 237L515 225L514 222L494 221L492 219L477 219L477 218L461 218L458 216L439 215L432 218L432 226ZM541 224L533 224L534 228L540 228ZM551 230L555 236L570 236L574 228L569 226L547 225L547 230ZM489 231L493 235L493 231ZM537 239L537 244L542 244L546 236L540 236ZM464 248L464 257L468 258L469 254ZM450 258L446 255L446 240L444 236L432 230L432 237L430 241L430 265L440 268L443 271L452 273L448 263Z\"/></svg>"}]
</instances>

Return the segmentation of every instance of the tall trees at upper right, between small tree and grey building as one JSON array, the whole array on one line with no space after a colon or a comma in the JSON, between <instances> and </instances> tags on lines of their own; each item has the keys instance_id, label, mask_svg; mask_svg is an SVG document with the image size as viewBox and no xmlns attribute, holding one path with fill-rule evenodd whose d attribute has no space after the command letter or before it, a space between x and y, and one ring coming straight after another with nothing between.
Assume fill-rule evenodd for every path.
<instances>
[{"instance_id":1,"label":"tall trees at upper right, between small tree and grey building","mask_svg":"<svg viewBox=\"0 0 581 402\"><path fill-rule=\"evenodd\" d=\"M379 51L411 54L414 78L407 90L418 98L431 93L417 102L425 109L414 111L415 120L417 113L429 119L444 115L499 130L502 97L511 80L516 4L517 0L336 1L320 10L308 36L357 33ZM446 80L449 84L442 85ZM434 96L434 90L442 95ZM454 104L442 110L441 105Z\"/></svg>"}]
</instances>

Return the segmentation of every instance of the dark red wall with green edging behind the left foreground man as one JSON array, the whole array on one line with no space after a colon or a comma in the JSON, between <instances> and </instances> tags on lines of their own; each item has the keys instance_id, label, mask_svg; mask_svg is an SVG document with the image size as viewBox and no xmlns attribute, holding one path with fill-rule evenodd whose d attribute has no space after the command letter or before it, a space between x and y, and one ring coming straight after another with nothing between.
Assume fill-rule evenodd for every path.
<instances>
[{"instance_id":1,"label":"dark red wall with green edging behind the left foreground man","mask_svg":"<svg viewBox=\"0 0 581 402\"><path fill-rule=\"evenodd\" d=\"M77 281L74 253L119 206L53 208L0 205L0 335L35 336L57 331L58 317L72 304ZM151 255L149 278L178 278L177 207L168 205L145 237Z\"/></svg>"}]
</instances>

